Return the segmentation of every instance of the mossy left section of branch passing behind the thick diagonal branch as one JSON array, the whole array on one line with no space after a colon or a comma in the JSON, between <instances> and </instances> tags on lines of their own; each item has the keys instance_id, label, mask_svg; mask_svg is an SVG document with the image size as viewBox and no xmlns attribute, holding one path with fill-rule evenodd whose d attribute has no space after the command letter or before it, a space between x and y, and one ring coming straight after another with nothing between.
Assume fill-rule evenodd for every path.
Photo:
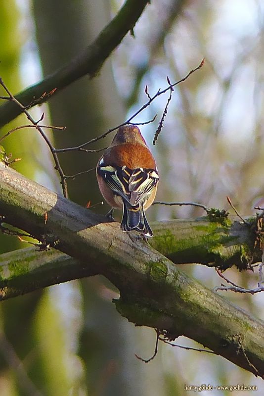
<instances>
[{"instance_id":1,"label":"mossy left section of branch passing behind the thick diagonal branch","mask_svg":"<svg viewBox=\"0 0 264 396\"><path fill-rule=\"evenodd\" d=\"M59 250L26 247L0 254L0 300L96 275L96 269Z\"/></svg>"}]
</instances>

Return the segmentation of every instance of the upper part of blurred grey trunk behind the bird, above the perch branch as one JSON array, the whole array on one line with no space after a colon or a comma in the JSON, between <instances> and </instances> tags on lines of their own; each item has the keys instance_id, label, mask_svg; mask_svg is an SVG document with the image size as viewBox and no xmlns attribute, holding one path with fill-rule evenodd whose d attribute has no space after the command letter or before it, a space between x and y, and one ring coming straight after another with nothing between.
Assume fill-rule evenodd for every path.
<instances>
[{"instance_id":1,"label":"upper part of blurred grey trunk behind the bird, above the perch branch","mask_svg":"<svg viewBox=\"0 0 264 396\"><path fill-rule=\"evenodd\" d=\"M35 0L33 4L44 75L87 47L110 19L109 7L103 1L96 2L96 6L85 0L63 3ZM66 131L53 133L57 148L84 143L118 125L123 121L122 106L110 61L96 78L84 77L52 98L49 108L52 122L67 126ZM106 138L93 147L104 147L110 140L111 137ZM60 161L67 174L75 174L93 168L99 156L100 153L67 152L60 154ZM68 184L70 198L75 202L85 205L88 200L92 204L101 200L95 172L70 180ZM106 212L108 208L104 210ZM101 207L99 211L102 211Z\"/></svg>"}]
</instances>

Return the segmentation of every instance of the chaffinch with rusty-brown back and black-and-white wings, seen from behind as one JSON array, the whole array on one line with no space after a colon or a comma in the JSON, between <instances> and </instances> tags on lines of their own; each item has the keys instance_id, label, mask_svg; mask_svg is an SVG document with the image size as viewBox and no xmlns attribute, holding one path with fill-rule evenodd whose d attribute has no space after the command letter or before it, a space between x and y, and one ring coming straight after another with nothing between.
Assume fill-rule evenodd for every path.
<instances>
[{"instance_id":1,"label":"chaffinch with rusty-brown back and black-and-white wings, seen from behind","mask_svg":"<svg viewBox=\"0 0 264 396\"><path fill-rule=\"evenodd\" d=\"M111 146L98 161L96 177L108 204L123 208L121 230L152 237L145 210L156 196L159 175L155 159L136 126L118 129Z\"/></svg>"}]
</instances>

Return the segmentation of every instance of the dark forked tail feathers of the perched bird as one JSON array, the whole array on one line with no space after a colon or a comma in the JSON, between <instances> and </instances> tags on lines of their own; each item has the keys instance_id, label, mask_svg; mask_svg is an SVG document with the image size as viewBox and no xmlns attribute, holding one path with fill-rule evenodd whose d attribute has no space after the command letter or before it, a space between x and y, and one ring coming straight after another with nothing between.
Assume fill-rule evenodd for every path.
<instances>
[{"instance_id":1,"label":"dark forked tail feathers of the perched bird","mask_svg":"<svg viewBox=\"0 0 264 396\"><path fill-rule=\"evenodd\" d=\"M138 231L146 237L153 236L142 203L132 206L123 201L123 217L120 227L122 231Z\"/></svg>"}]
</instances>

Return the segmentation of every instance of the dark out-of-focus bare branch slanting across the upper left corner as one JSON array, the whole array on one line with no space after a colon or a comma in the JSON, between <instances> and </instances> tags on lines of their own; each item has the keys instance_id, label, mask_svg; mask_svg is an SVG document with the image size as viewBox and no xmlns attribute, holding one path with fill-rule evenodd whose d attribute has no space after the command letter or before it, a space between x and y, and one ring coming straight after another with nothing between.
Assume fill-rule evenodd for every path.
<instances>
[{"instance_id":1,"label":"dark out-of-focus bare branch slanting across the upper left corner","mask_svg":"<svg viewBox=\"0 0 264 396\"><path fill-rule=\"evenodd\" d=\"M148 0L127 0L118 14L102 30L96 40L76 56L69 64L56 70L43 81L35 84L16 98L24 104L31 106L40 104L49 99L49 93L56 89L58 91L67 87L80 77L89 75L93 77L98 73L104 61L111 52L121 43L125 35L131 31L145 8ZM0 106L0 127L22 113L22 109L11 101Z\"/></svg>"}]
</instances>

